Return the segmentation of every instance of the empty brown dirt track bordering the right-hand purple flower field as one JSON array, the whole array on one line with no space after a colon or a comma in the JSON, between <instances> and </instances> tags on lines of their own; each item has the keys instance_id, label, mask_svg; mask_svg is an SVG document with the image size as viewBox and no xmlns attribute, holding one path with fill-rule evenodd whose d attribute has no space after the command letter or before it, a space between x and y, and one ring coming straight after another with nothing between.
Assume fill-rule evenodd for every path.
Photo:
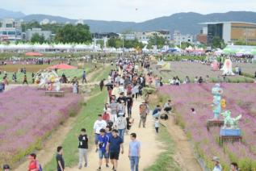
<instances>
[{"instance_id":1,"label":"empty brown dirt track bordering the right-hand purple flower field","mask_svg":"<svg viewBox=\"0 0 256 171\"><path fill-rule=\"evenodd\" d=\"M166 126L174 141L175 152L173 157L180 168L184 171L203 170L195 159L193 149L184 131L174 123L174 116L170 116L167 121L162 121L162 124Z\"/></svg>"}]
</instances>

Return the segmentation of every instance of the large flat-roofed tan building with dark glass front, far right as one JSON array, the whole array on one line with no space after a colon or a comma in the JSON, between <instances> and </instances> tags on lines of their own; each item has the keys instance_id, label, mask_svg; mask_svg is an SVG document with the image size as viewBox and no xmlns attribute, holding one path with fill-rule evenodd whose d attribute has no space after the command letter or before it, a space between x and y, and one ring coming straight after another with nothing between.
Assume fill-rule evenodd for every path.
<instances>
[{"instance_id":1,"label":"large flat-roofed tan building with dark glass front, far right","mask_svg":"<svg viewBox=\"0 0 256 171\"><path fill-rule=\"evenodd\" d=\"M220 37L225 44L233 44L237 40L256 43L256 23L245 22L210 22L207 25L207 41L212 44L214 37Z\"/></svg>"}]
</instances>

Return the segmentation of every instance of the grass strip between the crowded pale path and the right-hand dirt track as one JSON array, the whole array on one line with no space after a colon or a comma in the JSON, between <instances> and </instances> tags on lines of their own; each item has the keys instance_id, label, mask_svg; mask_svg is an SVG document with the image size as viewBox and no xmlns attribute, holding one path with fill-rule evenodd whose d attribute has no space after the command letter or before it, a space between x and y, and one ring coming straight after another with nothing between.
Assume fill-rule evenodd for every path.
<instances>
[{"instance_id":1,"label":"grass strip between the crowded pale path and the right-hand dirt track","mask_svg":"<svg viewBox=\"0 0 256 171\"><path fill-rule=\"evenodd\" d=\"M181 170L178 167L178 164L174 161L174 143L171 140L170 135L166 130L166 127L160 127L157 140L161 141L165 145L165 147L163 148L165 151L161 152L161 154L157 158L157 161L155 161L153 165L149 166L149 168L145 169L145 171Z\"/></svg>"}]
</instances>

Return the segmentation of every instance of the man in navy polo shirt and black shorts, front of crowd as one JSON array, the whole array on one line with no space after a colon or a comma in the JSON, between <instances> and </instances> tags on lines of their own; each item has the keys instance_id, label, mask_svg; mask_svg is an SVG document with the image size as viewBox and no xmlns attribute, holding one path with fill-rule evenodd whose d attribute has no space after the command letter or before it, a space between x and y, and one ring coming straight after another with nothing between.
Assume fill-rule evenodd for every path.
<instances>
[{"instance_id":1,"label":"man in navy polo shirt and black shorts, front of crowd","mask_svg":"<svg viewBox=\"0 0 256 171\"><path fill-rule=\"evenodd\" d=\"M123 139L118 136L118 131L114 129L112 131L112 136L108 140L107 143L107 152L109 152L109 156L111 159L111 164L113 165L113 170L117 169L117 161L119 160L120 149L121 153L124 154L124 144Z\"/></svg>"}]
</instances>

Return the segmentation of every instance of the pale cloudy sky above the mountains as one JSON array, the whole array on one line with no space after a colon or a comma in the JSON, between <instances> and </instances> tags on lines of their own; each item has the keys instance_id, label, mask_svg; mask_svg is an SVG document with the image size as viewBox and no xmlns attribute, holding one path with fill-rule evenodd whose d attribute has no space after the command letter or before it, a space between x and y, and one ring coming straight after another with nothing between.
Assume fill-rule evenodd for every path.
<instances>
[{"instance_id":1,"label":"pale cloudy sky above the mountains","mask_svg":"<svg viewBox=\"0 0 256 171\"><path fill-rule=\"evenodd\" d=\"M141 22L178 12L200 14L256 11L256 0L0 0L2 8L26 15Z\"/></svg>"}]
</instances>

